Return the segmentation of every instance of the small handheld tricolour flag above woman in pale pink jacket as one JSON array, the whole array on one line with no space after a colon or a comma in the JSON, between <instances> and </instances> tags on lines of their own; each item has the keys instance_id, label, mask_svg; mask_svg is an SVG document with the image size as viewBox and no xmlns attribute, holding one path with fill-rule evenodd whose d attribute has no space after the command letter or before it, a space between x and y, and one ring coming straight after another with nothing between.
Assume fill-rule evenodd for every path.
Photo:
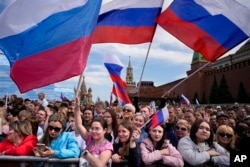
<instances>
[{"instance_id":1,"label":"small handheld tricolour flag above woman in pale pink jacket","mask_svg":"<svg viewBox=\"0 0 250 167\"><path fill-rule=\"evenodd\" d=\"M168 118L169 113L168 107L166 105L164 108L160 109L152 116L152 123L150 128L154 129L157 125L163 124Z\"/></svg>"}]
</instances>

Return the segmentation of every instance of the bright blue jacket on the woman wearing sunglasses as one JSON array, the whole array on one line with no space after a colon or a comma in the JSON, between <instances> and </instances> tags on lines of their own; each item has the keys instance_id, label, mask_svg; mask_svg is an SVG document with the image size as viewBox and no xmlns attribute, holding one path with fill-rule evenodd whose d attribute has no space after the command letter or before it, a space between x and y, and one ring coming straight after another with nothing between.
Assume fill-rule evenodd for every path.
<instances>
[{"instance_id":1,"label":"bright blue jacket on the woman wearing sunglasses","mask_svg":"<svg viewBox=\"0 0 250 167\"><path fill-rule=\"evenodd\" d=\"M50 148L55 151L53 158L78 158L80 156L80 149L71 132L62 132L55 140L52 140Z\"/></svg>"}]
</instances>

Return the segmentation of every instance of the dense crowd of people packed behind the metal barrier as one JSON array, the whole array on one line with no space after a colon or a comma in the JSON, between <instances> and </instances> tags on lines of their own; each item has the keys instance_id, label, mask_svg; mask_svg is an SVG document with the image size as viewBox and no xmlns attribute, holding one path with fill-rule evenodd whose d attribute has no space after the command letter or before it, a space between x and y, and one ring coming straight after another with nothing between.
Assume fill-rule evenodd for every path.
<instances>
[{"instance_id":1,"label":"dense crowd of people packed behind the metal barrier","mask_svg":"<svg viewBox=\"0 0 250 167\"><path fill-rule=\"evenodd\" d=\"M80 158L81 167L226 167L230 152L249 149L250 104L163 103L169 118L151 127L154 110L138 103L0 98L0 155Z\"/></svg>"}]
</instances>

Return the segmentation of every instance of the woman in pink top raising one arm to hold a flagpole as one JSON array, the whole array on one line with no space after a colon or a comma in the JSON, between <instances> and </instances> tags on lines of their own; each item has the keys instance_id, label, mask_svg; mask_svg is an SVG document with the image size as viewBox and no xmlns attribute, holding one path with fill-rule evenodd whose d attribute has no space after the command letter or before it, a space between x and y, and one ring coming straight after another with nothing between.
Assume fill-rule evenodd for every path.
<instances>
[{"instance_id":1,"label":"woman in pink top raising one arm to hold a flagpole","mask_svg":"<svg viewBox=\"0 0 250 167\"><path fill-rule=\"evenodd\" d=\"M87 148L82 152L80 166L107 166L113 152L113 145L106 138L107 122L103 118L92 121L89 131L82 125L80 115L80 100L76 98L75 123L82 138L86 141Z\"/></svg>"}]
</instances>

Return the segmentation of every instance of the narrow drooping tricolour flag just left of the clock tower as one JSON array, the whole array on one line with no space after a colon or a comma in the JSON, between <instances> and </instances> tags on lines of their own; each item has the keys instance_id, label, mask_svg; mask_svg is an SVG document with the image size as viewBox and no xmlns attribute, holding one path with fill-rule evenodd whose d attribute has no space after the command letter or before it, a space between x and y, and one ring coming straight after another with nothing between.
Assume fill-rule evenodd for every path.
<instances>
[{"instance_id":1,"label":"narrow drooping tricolour flag just left of the clock tower","mask_svg":"<svg viewBox=\"0 0 250 167\"><path fill-rule=\"evenodd\" d=\"M105 55L104 66L107 68L110 78L113 81L112 93L124 104L131 103L131 100L125 90L126 83L121 78L123 64L120 59L115 55Z\"/></svg>"}]
</instances>

